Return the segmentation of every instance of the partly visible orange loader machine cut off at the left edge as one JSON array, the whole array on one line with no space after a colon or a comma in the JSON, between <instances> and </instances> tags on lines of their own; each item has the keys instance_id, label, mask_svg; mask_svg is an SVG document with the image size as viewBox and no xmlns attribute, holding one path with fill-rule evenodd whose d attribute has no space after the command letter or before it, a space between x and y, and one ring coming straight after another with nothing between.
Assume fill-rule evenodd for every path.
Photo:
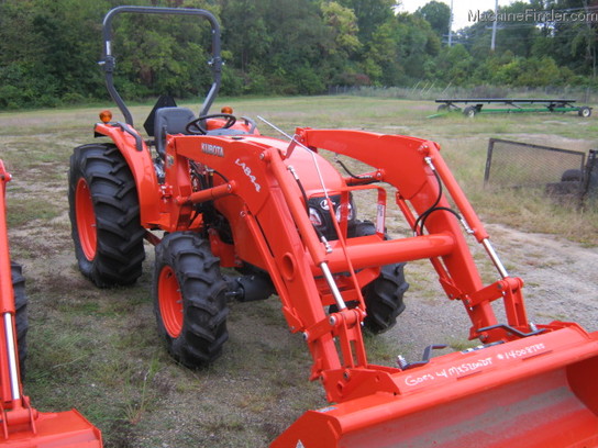
<instances>
[{"instance_id":1,"label":"partly visible orange loader machine cut off at the left edge","mask_svg":"<svg viewBox=\"0 0 598 448\"><path fill-rule=\"evenodd\" d=\"M41 413L23 394L21 371L27 332L24 278L10 261L5 186L11 176L0 160L0 446L11 448L101 448L100 432L77 411Z\"/></svg>"}]
</instances>

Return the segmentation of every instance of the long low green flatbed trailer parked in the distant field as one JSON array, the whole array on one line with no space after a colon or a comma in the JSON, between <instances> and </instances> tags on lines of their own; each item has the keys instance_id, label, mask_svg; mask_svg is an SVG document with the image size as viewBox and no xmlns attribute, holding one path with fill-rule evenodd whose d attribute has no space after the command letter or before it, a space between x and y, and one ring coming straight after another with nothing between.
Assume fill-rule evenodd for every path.
<instances>
[{"instance_id":1,"label":"long low green flatbed trailer parked in the distant field","mask_svg":"<svg viewBox=\"0 0 598 448\"><path fill-rule=\"evenodd\" d=\"M591 108L576 105L576 100L566 99L509 99L509 98L458 98L439 99L439 116L445 112L463 112L465 116L474 117L479 113L530 113L552 112L566 113L577 112L579 116L591 115Z\"/></svg>"}]
</instances>

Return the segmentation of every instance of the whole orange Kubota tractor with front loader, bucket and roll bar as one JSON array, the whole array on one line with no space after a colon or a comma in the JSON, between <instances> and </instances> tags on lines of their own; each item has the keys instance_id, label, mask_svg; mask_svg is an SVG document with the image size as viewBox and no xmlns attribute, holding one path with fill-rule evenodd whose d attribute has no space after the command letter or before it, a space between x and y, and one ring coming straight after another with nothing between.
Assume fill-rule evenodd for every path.
<instances>
[{"instance_id":1,"label":"whole orange Kubota tractor with front loader, bucket and roll bar","mask_svg":"<svg viewBox=\"0 0 598 448\"><path fill-rule=\"evenodd\" d=\"M212 29L213 83L199 115L160 98L145 122L150 139L112 81L111 23L131 12L197 15ZM230 300L276 293L331 404L303 414L272 447L598 446L598 333L529 321L523 281L500 262L435 143L306 127L278 139L231 110L210 114L222 60L218 22L203 10L120 7L103 33L108 90L124 122L102 113L95 133L110 142L71 156L79 268L99 287L129 284L141 275L144 239L154 244L158 332L190 367L221 355ZM367 168L342 175L323 150ZM357 216L364 192L375 198L372 221ZM412 236L386 234L395 206ZM466 235L488 253L496 282L483 283ZM372 365L363 328L396 323L405 262L418 259L429 259L447 298L463 303L480 345Z\"/></svg>"}]
</instances>

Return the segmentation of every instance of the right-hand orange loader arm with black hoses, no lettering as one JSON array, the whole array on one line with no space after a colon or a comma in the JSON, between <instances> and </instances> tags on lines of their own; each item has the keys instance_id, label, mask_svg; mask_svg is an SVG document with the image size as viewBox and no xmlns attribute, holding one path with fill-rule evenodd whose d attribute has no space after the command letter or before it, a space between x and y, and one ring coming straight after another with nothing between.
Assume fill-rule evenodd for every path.
<instances>
[{"instance_id":1,"label":"right-hand orange loader arm with black hoses, no lettering","mask_svg":"<svg viewBox=\"0 0 598 448\"><path fill-rule=\"evenodd\" d=\"M439 180L441 180L455 202L456 210L467 224L467 231L479 243L484 243L485 247L489 246L489 237L484 225L452 176L434 142L358 131L310 128L298 128L297 136L298 141L308 147L343 154L376 167L381 173L380 180L396 188L397 204L411 226L416 224L416 217L424 214L432 205L433 199L438 198ZM365 150L364 148L375 149ZM438 178L434 170L438 172ZM416 216L406 202L411 204L417 213ZM461 224L449 211L451 206L444 194L440 198L436 209L425 220L425 227L430 235L447 232L453 238L454 247L449 254L443 254L440 260L432 256L428 258L439 273L439 281L447 296L464 303L473 323L470 337L480 337L484 343L492 343L508 337L500 328L478 333L479 328L497 325L490 302L505 295L508 295L506 299L506 307L509 311L508 324L522 332L529 332L521 295L522 281L520 279L503 279L490 288L484 289L467 242L463 236ZM416 244L414 242L413 244ZM498 262L496 258L492 261ZM505 293L505 291L507 292ZM475 299L473 300L472 296Z\"/></svg>"}]
</instances>

